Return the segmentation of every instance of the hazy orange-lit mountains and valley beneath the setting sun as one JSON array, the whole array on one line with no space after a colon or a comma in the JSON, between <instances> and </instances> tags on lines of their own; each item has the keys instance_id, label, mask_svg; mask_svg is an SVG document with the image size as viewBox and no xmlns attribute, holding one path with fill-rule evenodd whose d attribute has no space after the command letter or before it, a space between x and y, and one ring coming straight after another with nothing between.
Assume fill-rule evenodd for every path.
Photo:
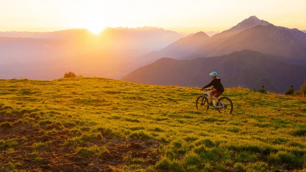
<instances>
[{"instance_id":1,"label":"hazy orange-lit mountains and valley beneath the setting sun","mask_svg":"<svg viewBox=\"0 0 306 172\"><path fill-rule=\"evenodd\" d=\"M0 32L0 78L53 80L74 71L120 79L145 64L136 57L182 35L161 28L106 28L56 32Z\"/></svg>"}]
</instances>

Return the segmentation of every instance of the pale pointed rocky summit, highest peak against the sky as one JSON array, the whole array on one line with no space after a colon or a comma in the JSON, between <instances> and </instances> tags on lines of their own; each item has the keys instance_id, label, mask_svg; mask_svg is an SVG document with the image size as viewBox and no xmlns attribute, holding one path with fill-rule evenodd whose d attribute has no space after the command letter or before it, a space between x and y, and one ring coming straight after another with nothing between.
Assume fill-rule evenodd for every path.
<instances>
[{"instance_id":1,"label":"pale pointed rocky summit, highest peak against the sky","mask_svg":"<svg viewBox=\"0 0 306 172\"><path fill-rule=\"evenodd\" d=\"M256 16L250 16L249 18L244 19L243 21L241 21L240 23L238 23L236 26L234 26L233 28L231 28L230 30L241 30L241 29L249 29L249 28L253 28L255 26L267 26L271 23L269 23L268 21L265 20L261 20L259 18L257 18Z\"/></svg>"}]
</instances>

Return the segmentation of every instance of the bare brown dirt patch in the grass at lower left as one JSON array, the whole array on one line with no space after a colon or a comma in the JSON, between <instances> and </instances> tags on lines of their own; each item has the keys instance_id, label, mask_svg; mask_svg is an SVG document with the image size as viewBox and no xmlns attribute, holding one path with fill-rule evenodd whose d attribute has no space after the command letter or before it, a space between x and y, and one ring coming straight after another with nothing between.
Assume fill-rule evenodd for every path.
<instances>
[{"instance_id":1,"label":"bare brown dirt patch in the grass at lower left","mask_svg":"<svg viewBox=\"0 0 306 172\"><path fill-rule=\"evenodd\" d=\"M45 134L45 131L30 125L14 125L11 129L0 129L0 171L28 169L43 171L114 171L124 165L140 164L142 168L154 165L160 154L152 152L159 146L154 140L124 140L106 136L90 138L75 145L64 144L72 134L69 130ZM15 139L15 144L6 143ZM84 155L77 149L97 146L106 148L101 155ZM129 167L128 167L129 168Z\"/></svg>"}]
</instances>

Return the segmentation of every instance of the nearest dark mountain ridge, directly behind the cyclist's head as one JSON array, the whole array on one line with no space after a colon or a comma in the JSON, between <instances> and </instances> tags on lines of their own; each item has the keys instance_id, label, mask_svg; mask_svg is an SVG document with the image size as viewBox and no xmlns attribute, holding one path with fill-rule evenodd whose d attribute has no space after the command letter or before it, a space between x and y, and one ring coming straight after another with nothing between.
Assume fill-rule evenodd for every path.
<instances>
[{"instance_id":1,"label":"nearest dark mountain ridge, directly behind the cyclist's head","mask_svg":"<svg viewBox=\"0 0 306 172\"><path fill-rule=\"evenodd\" d=\"M247 87L285 92L290 85L299 86L306 80L306 67L289 64L278 57L243 50L218 57L176 60L161 58L141 67L124 81L154 85L202 87L211 81L209 73L217 71L224 87Z\"/></svg>"}]
</instances>

